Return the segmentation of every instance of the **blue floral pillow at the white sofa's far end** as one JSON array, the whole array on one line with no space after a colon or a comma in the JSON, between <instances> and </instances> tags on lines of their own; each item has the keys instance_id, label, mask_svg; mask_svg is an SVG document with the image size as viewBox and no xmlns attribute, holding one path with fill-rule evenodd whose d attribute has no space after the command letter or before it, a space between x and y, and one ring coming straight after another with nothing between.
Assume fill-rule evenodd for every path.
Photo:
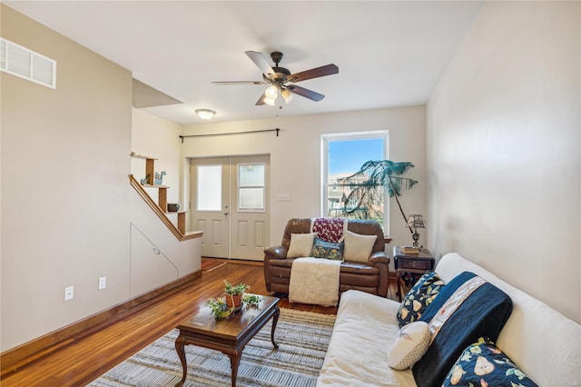
<instances>
[{"instance_id":1,"label":"blue floral pillow at the white sofa's far end","mask_svg":"<svg viewBox=\"0 0 581 387\"><path fill-rule=\"evenodd\" d=\"M418 282L409 290L398 309L399 328L419 320L421 313L428 307L444 286L438 274L432 271L424 273Z\"/></svg>"}]
</instances>

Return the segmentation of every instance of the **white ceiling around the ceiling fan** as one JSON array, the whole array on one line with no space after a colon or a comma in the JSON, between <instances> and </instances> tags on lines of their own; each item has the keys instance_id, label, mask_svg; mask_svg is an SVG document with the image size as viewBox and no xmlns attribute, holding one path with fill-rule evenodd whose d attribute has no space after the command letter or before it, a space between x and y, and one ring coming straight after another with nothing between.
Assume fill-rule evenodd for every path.
<instances>
[{"instance_id":1,"label":"white ceiling around the ceiling fan","mask_svg":"<svg viewBox=\"0 0 581 387\"><path fill-rule=\"evenodd\" d=\"M177 124L425 104L478 15L482 1L5 1L66 35L133 77L183 102L144 110ZM17 42L15 42L17 43ZM325 94L295 95L282 108L256 106L263 85L244 54L270 62L284 54L291 73L321 65L339 74L298 83ZM42 53L41 53L42 54ZM273 65L273 64L271 64Z\"/></svg>"}]
</instances>

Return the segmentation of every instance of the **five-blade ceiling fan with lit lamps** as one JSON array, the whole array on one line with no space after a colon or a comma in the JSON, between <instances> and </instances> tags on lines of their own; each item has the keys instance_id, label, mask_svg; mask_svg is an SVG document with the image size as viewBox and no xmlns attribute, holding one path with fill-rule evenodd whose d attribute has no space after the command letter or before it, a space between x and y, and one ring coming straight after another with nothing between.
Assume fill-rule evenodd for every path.
<instances>
[{"instance_id":1,"label":"five-blade ceiling fan with lit lamps","mask_svg":"<svg viewBox=\"0 0 581 387\"><path fill-rule=\"evenodd\" d=\"M273 106L279 94L282 95L282 98L284 98L284 101L287 104L291 102L292 94L298 94L310 99L311 101L319 102L325 98L325 95L290 83L339 73L339 67L331 64L311 68L310 70L302 71L300 73L291 74L289 70L279 66L279 63L281 63L282 59L282 53L278 51L271 53L271 59L272 62L274 62L274 67L269 65L266 58L261 53L257 53L256 51L246 51L245 54L251 58L251 61L254 62L254 65L257 65L258 68L261 69L262 81L212 82L212 84L270 84L270 86L267 87L266 91L261 94L261 97L256 102L257 105L269 104Z\"/></svg>"}]
</instances>

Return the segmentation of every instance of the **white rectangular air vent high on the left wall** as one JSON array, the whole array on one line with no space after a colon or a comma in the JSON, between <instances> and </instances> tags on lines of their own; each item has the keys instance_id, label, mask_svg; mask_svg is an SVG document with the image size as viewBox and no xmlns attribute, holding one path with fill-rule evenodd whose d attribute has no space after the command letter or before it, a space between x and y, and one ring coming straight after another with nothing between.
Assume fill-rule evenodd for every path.
<instances>
[{"instance_id":1,"label":"white rectangular air vent high on the left wall","mask_svg":"<svg viewBox=\"0 0 581 387\"><path fill-rule=\"evenodd\" d=\"M0 70L56 88L56 61L0 37Z\"/></svg>"}]
</instances>

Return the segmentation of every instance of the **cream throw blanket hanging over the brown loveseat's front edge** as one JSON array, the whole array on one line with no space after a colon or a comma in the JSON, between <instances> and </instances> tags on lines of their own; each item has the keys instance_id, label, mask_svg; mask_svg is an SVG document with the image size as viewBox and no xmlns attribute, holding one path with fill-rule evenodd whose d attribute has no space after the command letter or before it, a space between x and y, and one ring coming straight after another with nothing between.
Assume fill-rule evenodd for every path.
<instances>
[{"instance_id":1,"label":"cream throw blanket hanging over the brown loveseat's front edge","mask_svg":"<svg viewBox=\"0 0 581 387\"><path fill-rule=\"evenodd\" d=\"M337 306L341 261L297 258L292 262L289 301Z\"/></svg>"}]
</instances>

